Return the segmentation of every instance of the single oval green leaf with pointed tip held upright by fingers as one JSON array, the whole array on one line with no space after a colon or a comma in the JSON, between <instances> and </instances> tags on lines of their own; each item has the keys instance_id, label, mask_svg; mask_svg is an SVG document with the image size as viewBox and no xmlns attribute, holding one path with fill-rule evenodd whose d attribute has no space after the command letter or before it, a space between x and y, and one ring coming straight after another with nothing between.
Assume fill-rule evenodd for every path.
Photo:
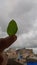
<instances>
[{"instance_id":1,"label":"single oval green leaf with pointed tip held upright by fingers","mask_svg":"<svg viewBox=\"0 0 37 65\"><path fill-rule=\"evenodd\" d=\"M15 35L17 33L18 27L17 23L14 20L11 20L7 27L8 35Z\"/></svg>"}]
</instances>

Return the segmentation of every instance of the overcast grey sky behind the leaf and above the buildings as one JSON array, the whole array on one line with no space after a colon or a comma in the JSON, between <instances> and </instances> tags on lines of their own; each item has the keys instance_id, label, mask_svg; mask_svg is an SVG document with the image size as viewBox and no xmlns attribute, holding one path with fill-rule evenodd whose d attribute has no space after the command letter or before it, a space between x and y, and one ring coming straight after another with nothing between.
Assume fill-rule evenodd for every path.
<instances>
[{"instance_id":1,"label":"overcast grey sky behind the leaf and above the buildings","mask_svg":"<svg viewBox=\"0 0 37 65\"><path fill-rule=\"evenodd\" d=\"M18 25L19 45L37 48L37 0L0 0L0 32L6 31L10 20Z\"/></svg>"}]
</instances>

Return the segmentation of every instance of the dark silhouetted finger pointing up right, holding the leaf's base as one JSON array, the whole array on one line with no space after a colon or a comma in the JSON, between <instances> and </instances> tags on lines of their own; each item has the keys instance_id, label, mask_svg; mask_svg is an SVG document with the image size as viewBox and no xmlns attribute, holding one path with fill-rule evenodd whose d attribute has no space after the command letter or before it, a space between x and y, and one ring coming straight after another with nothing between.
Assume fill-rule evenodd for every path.
<instances>
[{"instance_id":1,"label":"dark silhouetted finger pointing up right, holding the leaf's base","mask_svg":"<svg viewBox=\"0 0 37 65\"><path fill-rule=\"evenodd\" d=\"M0 51L8 48L11 44L13 44L17 39L16 35L8 36L6 38L0 39Z\"/></svg>"}]
</instances>

